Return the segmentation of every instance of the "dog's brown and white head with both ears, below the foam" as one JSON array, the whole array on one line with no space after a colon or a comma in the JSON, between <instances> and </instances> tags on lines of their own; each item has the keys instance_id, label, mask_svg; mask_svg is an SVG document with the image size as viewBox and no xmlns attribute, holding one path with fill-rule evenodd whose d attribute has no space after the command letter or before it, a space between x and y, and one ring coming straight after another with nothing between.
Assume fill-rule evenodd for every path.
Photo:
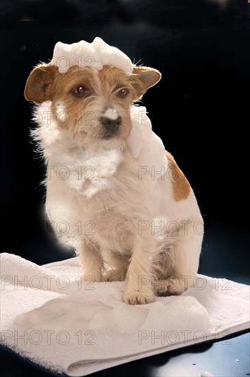
<instances>
[{"instance_id":1,"label":"dog's brown and white head with both ears, below the foam","mask_svg":"<svg viewBox=\"0 0 250 377\"><path fill-rule=\"evenodd\" d=\"M101 71L71 66L59 73L58 66L40 64L29 75L25 98L42 104L51 101L51 115L71 136L126 140L132 130L130 108L161 78L156 69L135 66L126 75L114 66Z\"/></svg>"}]
</instances>

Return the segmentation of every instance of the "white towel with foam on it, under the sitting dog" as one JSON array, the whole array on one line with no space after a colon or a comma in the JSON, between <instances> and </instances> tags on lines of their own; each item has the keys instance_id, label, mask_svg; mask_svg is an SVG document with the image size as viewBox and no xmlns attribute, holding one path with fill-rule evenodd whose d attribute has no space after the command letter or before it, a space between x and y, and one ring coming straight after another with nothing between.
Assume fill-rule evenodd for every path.
<instances>
[{"instance_id":1,"label":"white towel with foam on it, under the sitting dog","mask_svg":"<svg viewBox=\"0 0 250 377\"><path fill-rule=\"evenodd\" d=\"M198 275L180 296L121 302L124 282L84 282L78 258L38 266L3 253L1 343L68 376L249 328L249 286Z\"/></svg>"}]
</instances>

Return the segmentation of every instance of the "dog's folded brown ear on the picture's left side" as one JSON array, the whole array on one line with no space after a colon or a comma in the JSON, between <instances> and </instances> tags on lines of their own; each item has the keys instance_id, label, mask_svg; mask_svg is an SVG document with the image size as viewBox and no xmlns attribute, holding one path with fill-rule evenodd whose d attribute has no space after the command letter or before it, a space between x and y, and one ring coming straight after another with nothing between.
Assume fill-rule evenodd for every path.
<instances>
[{"instance_id":1,"label":"dog's folded brown ear on the picture's left side","mask_svg":"<svg viewBox=\"0 0 250 377\"><path fill-rule=\"evenodd\" d=\"M40 64L36 66L28 77L24 92L25 99L36 102L36 104L51 100L51 86L56 71L58 68L53 65Z\"/></svg>"}]
</instances>

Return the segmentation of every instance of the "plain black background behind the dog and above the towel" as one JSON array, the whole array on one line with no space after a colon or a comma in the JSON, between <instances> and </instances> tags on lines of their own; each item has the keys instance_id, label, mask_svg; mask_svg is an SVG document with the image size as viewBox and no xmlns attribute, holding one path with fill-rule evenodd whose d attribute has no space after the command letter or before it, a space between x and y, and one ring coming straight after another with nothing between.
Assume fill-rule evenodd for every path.
<instances>
[{"instance_id":1,"label":"plain black background behind the dog and above the towel","mask_svg":"<svg viewBox=\"0 0 250 377\"><path fill-rule=\"evenodd\" d=\"M1 1L2 252L35 263L73 256L42 218L45 166L29 138L23 90L55 42L100 36L162 72L143 97L205 220L199 272L249 274L250 4L216 0Z\"/></svg>"}]
</instances>

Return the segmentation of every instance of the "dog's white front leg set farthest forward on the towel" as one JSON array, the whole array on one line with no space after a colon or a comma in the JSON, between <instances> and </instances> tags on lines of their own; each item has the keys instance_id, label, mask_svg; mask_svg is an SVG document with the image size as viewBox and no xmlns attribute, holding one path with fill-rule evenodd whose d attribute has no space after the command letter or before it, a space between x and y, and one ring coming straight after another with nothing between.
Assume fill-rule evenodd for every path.
<instances>
[{"instance_id":1,"label":"dog's white front leg set farthest forward on the towel","mask_svg":"<svg viewBox=\"0 0 250 377\"><path fill-rule=\"evenodd\" d=\"M152 289L152 256L155 240L152 234L137 236L132 258L127 270L122 300L130 305L149 304L155 301Z\"/></svg>"}]
</instances>

